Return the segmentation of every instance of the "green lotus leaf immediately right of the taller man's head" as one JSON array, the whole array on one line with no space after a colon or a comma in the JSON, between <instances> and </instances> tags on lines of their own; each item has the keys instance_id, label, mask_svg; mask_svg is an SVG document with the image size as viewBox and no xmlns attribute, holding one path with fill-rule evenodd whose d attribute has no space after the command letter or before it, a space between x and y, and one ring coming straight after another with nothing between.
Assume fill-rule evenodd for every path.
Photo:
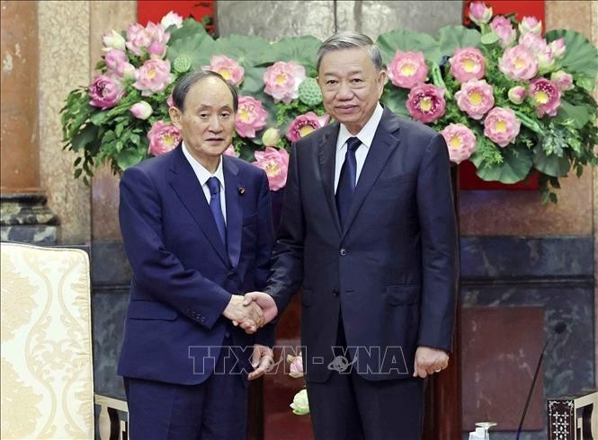
<instances>
[{"instance_id":1,"label":"green lotus leaf immediately right of the taller man's head","mask_svg":"<svg viewBox=\"0 0 598 440\"><path fill-rule=\"evenodd\" d=\"M376 40L376 45L380 48L382 60L387 65L395 57L397 49L404 52L424 52L425 59L436 64L439 64L442 59L438 41L427 33L397 29L380 35Z\"/></svg>"}]
</instances>

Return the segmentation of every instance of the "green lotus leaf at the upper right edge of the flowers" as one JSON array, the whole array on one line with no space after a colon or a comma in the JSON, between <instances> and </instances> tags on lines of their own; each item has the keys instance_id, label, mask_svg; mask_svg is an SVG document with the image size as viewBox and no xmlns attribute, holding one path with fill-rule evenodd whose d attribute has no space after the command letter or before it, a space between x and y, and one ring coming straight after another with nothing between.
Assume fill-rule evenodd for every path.
<instances>
[{"instance_id":1,"label":"green lotus leaf at the upper right edge of the flowers","mask_svg":"<svg viewBox=\"0 0 598 440\"><path fill-rule=\"evenodd\" d=\"M598 74L598 50L579 32L564 29L546 32L546 40L549 42L559 38L565 39L566 50L565 55L557 62L571 74L584 74L592 81L594 88L594 80Z\"/></svg>"}]
</instances>

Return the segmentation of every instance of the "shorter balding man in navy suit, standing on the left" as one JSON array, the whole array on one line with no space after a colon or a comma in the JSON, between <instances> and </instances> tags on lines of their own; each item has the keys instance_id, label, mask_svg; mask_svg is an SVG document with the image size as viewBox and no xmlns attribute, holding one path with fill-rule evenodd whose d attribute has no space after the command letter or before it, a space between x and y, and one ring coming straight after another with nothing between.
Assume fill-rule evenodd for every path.
<instances>
[{"instance_id":1,"label":"shorter balding man in navy suit, standing on the left","mask_svg":"<svg viewBox=\"0 0 598 440\"><path fill-rule=\"evenodd\" d=\"M270 270L268 181L222 155L237 92L220 75L184 76L173 101L182 144L120 180L133 272L119 363L129 431L134 440L240 440L247 379L272 362L272 329L255 330L276 306L265 294L245 304L243 296L263 289Z\"/></svg>"}]
</instances>

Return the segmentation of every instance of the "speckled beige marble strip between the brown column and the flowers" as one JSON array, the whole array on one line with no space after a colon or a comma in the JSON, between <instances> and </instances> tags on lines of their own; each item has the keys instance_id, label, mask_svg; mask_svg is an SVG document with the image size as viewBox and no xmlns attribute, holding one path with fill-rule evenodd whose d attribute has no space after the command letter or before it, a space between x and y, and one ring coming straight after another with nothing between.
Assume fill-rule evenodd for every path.
<instances>
[{"instance_id":1,"label":"speckled beige marble strip between the brown column and the flowers","mask_svg":"<svg viewBox=\"0 0 598 440\"><path fill-rule=\"evenodd\" d=\"M59 243L90 242L90 189L73 178L75 154L62 150L59 111L68 92L89 83L89 3L39 3L40 181L60 219Z\"/></svg>"}]
</instances>

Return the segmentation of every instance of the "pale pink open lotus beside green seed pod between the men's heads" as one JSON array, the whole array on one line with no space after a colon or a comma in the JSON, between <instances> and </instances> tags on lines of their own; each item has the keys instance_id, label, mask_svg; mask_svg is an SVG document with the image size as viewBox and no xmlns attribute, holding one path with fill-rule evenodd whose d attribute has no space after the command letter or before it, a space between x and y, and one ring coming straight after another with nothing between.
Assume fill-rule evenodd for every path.
<instances>
[{"instance_id":1,"label":"pale pink open lotus beside green seed pod between the men's heads","mask_svg":"<svg viewBox=\"0 0 598 440\"><path fill-rule=\"evenodd\" d=\"M272 96L274 102L288 104L299 98L299 84L305 78L305 67L292 61L277 61L263 73L263 83L266 84L263 92Z\"/></svg>"}]
</instances>

